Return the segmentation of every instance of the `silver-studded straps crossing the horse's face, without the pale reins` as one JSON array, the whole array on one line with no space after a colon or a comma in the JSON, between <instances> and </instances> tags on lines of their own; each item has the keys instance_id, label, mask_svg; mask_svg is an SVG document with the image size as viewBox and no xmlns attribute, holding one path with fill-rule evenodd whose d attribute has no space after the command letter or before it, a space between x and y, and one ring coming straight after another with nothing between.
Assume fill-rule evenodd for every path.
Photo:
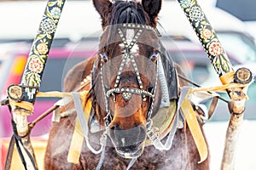
<instances>
[{"instance_id":1,"label":"silver-studded straps crossing the horse's face, without the pale reins","mask_svg":"<svg viewBox=\"0 0 256 170\"><path fill-rule=\"evenodd\" d=\"M124 33L120 29L120 27L126 28L126 29L129 28L129 29L134 29L134 30L137 29L138 30L137 33L135 34L135 36L132 38L130 44L128 44L126 37L124 36ZM154 88L152 88L151 92L143 90L143 82L140 77L140 73L138 71L137 63L134 59L134 55L131 53L131 48L133 48L133 46L136 44L138 38L142 35L143 31L145 31L145 30L154 31L154 28L151 26L144 26L144 25L140 25L140 24L123 24L120 27L118 28L118 34L119 34L119 37L121 38L123 44L125 45L125 53L122 56L122 62L119 66L118 75L116 77L116 81L114 83L113 88L108 89L105 86L105 83L103 81L103 69L102 69L104 62L101 61L102 88L103 88L103 93L105 96L105 102L106 102L105 105L106 105L106 111L107 111L107 116L104 118L106 121L105 124L106 124L106 127L108 127L108 125L110 124L110 122L113 119L110 114L110 111L109 111L109 99L111 96L113 96L113 102L115 102L115 94L122 94L123 99L125 99L125 102L127 102L131 99L132 94L136 94L136 95L142 95L144 102L147 100L146 96L149 97L150 103L148 106L147 127L150 127L152 124L151 116L152 116L153 109L154 109L154 94L155 94L157 80L158 80L158 65L156 63L156 67L155 67L156 75L155 75ZM103 54L100 54L100 55L102 56ZM157 54L157 57L159 57L159 54ZM119 88L120 77L121 77L122 71L125 67L125 63L127 62L127 60L131 60L131 64L135 71L135 75L137 78L137 83L138 83L139 88Z\"/></svg>"}]
</instances>

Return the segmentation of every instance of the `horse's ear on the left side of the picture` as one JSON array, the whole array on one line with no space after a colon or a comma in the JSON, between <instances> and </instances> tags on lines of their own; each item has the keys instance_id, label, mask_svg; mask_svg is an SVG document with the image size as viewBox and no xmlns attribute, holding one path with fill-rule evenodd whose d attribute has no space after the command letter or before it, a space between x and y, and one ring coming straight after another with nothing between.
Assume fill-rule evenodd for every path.
<instances>
[{"instance_id":1,"label":"horse's ear on the left side of the picture","mask_svg":"<svg viewBox=\"0 0 256 170\"><path fill-rule=\"evenodd\" d=\"M93 0L96 11L101 15L102 21L105 20L110 13L112 3L109 0Z\"/></svg>"}]
</instances>

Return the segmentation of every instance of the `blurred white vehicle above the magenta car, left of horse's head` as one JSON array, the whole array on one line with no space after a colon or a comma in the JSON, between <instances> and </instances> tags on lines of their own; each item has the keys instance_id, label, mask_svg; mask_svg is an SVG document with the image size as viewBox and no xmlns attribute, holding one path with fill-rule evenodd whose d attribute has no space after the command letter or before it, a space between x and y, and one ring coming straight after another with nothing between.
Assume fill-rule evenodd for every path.
<instances>
[{"instance_id":1,"label":"blurred white vehicle above the magenta car, left of horse's head","mask_svg":"<svg viewBox=\"0 0 256 170\"><path fill-rule=\"evenodd\" d=\"M47 1L0 2L0 42L33 39ZM100 15L91 1L66 1L56 38L79 40L101 31Z\"/></svg>"}]
</instances>

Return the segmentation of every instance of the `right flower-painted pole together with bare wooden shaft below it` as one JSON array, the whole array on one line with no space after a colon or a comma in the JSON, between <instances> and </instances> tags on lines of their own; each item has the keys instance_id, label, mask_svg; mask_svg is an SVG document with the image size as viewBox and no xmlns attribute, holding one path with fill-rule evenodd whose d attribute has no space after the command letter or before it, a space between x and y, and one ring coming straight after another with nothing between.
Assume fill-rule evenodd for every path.
<instances>
[{"instance_id":1,"label":"right flower-painted pole together with bare wooden shaft below it","mask_svg":"<svg viewBox=\"0 0 256 170\"><path fill-rule=\"evenodd\" d=\"M183 8L196 36L207 52L208 58L211 60L215 71L218 73L220 79L223 80L223 84L234 82L234 70L230 59L225 53L224 48L219 42L215 31L212 29L201 7L196 0L177 0L177 2ZM236 93L236 91L238 93ZM221 165L221 169L223 170L234 169L236 139L243 119L244 102L242 100L245 99L245 96L241 97L241 89L236 89L236 91L234 92L232 89L227 90L233 105L230 111L230 124L225 139L224 155ZM236 96L241 97L241 99L236 99ZM233 113L234 111L236 114Z\"/></svg>"}]
</instances>

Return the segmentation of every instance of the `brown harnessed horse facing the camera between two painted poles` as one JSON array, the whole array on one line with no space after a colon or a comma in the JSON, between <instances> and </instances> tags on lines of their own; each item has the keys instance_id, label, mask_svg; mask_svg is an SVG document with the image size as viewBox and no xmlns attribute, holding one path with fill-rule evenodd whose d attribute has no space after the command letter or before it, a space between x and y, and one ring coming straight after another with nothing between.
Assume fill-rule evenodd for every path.
<instances>
[{"instance_id":1,"label":"brown harnessed horse facing the camera between two painted poles","mask_svg":"<svg viewBox=\"0 0 256 170\"><path fill-rule=\"evenodd\" d=\"M198 163L192 134L177 115L179 88L187 82L177 77L182 68L160 42L156 26L161 0L93 0L93 4L102 19L99 49L67 73L64 91L89 91L84 100L91 103L90 146L93 150L103 146L104 151L95 154L84 141L79 161L67 161L79 115L71 101L61 107L60 122L52 123L44 168L209 169L209 156ZM178 126L173 125L175 120ZM165 144L172 129L170 148L157 149L150 137Z\"/></svg>"}]
</instances>

